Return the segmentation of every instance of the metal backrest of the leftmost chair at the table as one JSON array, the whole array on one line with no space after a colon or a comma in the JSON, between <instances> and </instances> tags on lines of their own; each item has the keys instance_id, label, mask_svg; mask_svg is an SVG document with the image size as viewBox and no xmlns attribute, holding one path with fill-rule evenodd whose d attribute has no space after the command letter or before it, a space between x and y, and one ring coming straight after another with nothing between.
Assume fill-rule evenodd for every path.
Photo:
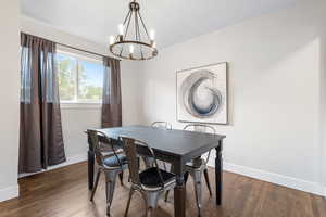
<instances>
[{"instance_id":1,"label":"metal backrest of the leftmost chair at the table","mask_svg":"<svg viewBox=\"0 0 326 217\"><path fill-rule=\"evenodd\" d=\"M116 149L117 149L116 145L114 145L113 140L109 138L109 136L105 132L96 129L87 129L87 133L89 135L90 142L93 145L96 161L100 166L104 166L103 165L104 159L108 156L113 157L113 155L114 157L116 157L118 162L118 167L123 166L116 153Z\"/></svg>"}]
</instances>

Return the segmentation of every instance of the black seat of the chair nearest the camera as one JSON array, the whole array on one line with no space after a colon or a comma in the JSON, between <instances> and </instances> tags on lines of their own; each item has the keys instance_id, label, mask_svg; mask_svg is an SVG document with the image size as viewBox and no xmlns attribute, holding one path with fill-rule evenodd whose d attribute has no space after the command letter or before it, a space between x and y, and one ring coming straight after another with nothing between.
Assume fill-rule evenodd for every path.
<instances>
[{"instance_id":1,"label":"black seat of the chair nearest the camera","mask_svg":"<svg viewBox=\"0 0 326 217\"><path fill-rule=\"evenodd\" d=\"M175 182L175 175L163 169L160 169L164 182L164 187L167 187ZM161 189L160 175L156 167L146 169L139 174L139 179L142 187L146 190L159 190Z\"/></svg>"}]
</instances>

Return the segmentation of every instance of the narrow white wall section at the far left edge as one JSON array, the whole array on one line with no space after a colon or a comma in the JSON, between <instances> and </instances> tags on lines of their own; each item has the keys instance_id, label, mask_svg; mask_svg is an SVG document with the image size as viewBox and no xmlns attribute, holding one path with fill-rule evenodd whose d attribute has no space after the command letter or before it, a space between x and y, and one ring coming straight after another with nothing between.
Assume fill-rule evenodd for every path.
<instances>
[{"instance_id":1,"label":"narrow white wall section at the far left edge","mask_svg":"<svg viewBox=\"0 0 326 217\"><path fill-rule=\"evenodd\" d=\"M20 119L18 0L0 8L0 202L17 196Z\"/></svg>"}]
</instances>

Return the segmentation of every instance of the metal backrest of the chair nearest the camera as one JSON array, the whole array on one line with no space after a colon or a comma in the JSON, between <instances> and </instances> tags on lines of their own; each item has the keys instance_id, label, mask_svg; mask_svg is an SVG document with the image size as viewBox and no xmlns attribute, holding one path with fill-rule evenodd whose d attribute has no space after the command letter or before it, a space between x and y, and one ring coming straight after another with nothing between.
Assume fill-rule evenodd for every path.
<instances>
[{"instance_id":1,"label":"metal backrest of the chair nearest the camera","mask_svg":"<svg viewBox=\"0 0 326 217\"><path fill-rule=\"evenodd\" d=\"M138 156L137 155L137 146L141 145L142 148L147 149L150 157L152 157L154 159L154 167L158 169L161 187L164 188L163 176L161 174L161 170L159 169L159 164L158 164L158 161L156 161L153 150L147 143L145 143L142 141L138 141L138 140L127 138L127 137L122 137L121 140L123 142L123 149L127 156L131 182L134 184L141 187L140 178L139 178L139 173L140 173L139 168L140 167L139 167L139 161L137 157Z\"/></svg>"}]
</instances>

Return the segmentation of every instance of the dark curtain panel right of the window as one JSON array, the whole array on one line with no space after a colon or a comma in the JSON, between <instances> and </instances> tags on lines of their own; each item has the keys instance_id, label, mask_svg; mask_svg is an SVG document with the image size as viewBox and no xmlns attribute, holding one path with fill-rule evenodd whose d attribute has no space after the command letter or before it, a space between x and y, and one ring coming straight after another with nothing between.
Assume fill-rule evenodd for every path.
<instances>
[{"instance_id":1,"label":"dark curtain panel right of the window","mask_svg":"<svg viewBox=\"0 0 326 217\"><path fill-rule=\"evenodd\" d=\"M103 58L102 128L122 126L120 61Z\"/></svg>"}]
</instances>

